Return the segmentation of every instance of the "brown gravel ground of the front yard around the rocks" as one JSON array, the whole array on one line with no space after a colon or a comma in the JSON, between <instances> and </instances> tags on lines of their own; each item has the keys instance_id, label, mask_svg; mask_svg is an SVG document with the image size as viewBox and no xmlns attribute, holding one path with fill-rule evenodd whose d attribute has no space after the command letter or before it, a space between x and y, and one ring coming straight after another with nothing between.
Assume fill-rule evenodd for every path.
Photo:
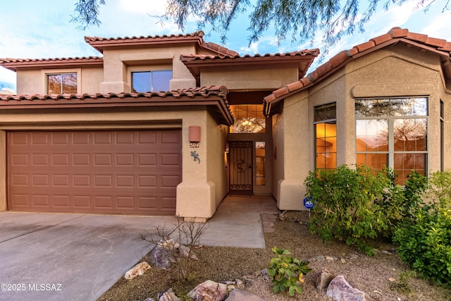
<instances>
[{"instance_id":1,"label":"brown gravel ground of the front yard around the rocks","mask_svg":"<svg viewBox=\"0 0 451 301\"><path fill-rule=\"evenodd\" d=\"M371 300L451 300L451 290L432 285L428 281L401 276L412 274L406 264L395 254L395 246L384 242L373 242L376 252L368 257L342 242L322 242L307 231L308 213L289 211L283 221L274 222L273 232L265 233L266 249L235 247L197 247L194 252L199 260L184 268L178 264L173 269L159 270L154 267L144 275L130 281L121 278L99 300L145 300L156 299L159 292L172 288L181 300L197 284L206 280L235 281L249 293L270 300L331 300L325 291L315 288L316 276L322 269L335 275L343 275L352 287L363 290ZM261 274L268 267L273 246L292 252L292 257L307 260L313 270L305 276L304 292L295 297L272 293L271 279ZM329 259L327 260L326 259ZM331 257L331 258L330 258ZM333 260L331 260L333 259ZM149 262L148 255L142 259ZM186 275L183 276L183 271Z\"/></svg>"}]
</instances>

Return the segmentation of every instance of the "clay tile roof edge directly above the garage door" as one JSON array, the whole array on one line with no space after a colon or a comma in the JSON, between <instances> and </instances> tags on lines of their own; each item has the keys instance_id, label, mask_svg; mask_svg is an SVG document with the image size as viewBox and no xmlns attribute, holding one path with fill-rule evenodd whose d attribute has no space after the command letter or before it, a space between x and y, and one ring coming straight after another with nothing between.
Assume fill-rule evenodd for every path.
<instances>
[{"instance_id":1,"label":"clay tile roof edge directly above the garage door","mask_svg":"<svg viewBox=\"0 0 451 301\"><path fill-rule=\"evenodd\" d=\"M210 86L146 93L0 95L0 109L206 105L214 106L218 122L232 125L227 94L224 86Z\"/></svg>"}]
</instances>

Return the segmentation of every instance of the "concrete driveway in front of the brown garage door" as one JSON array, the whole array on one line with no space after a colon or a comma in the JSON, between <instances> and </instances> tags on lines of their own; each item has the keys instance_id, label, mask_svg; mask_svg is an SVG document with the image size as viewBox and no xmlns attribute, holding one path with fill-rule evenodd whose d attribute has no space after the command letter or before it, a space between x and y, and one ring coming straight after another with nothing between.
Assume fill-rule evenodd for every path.
<instances>
[{"instance_id":1,"label":"concrete driveway in front of the brown garage door","mask_svg":"<svg viewBox=\"0 0 451 301\"><path fill-rule=\"evenodd\" d=\"M0 300L97 300L174 217L0 212Z\"/></svg>"}]
</instances>

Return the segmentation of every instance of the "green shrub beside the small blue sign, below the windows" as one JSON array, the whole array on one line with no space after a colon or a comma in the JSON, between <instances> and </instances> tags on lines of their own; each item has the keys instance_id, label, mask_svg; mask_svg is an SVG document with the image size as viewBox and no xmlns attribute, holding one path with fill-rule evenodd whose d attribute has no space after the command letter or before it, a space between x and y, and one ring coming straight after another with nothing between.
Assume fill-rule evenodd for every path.
<instances>
[{"instance_id":1,"label":"green shrub beside the small blue sign, below the windows","mask_svg":"<svg viewBox=\"0 0 451 301\"><path fill-rule=\"evenodd\" d=\"M366 240L388 231L390 225L385 211L391 207L382 205L390 186L386 171L374 175L367 166L352 169L342 165L334 170L311 171L304 185L307 197L316 204L309 231L322 240L345 240L347 245L357 245L372 255Z\"/></svg>"}]
</instances>

